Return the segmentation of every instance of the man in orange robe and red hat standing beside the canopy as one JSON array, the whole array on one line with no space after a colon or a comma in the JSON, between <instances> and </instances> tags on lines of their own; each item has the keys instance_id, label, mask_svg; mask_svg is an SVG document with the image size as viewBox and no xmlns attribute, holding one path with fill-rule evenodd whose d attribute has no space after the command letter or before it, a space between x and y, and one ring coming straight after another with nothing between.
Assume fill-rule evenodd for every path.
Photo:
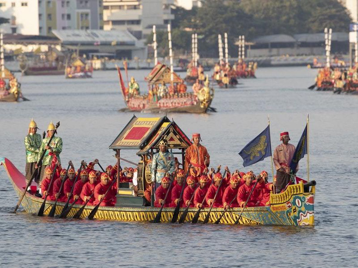
<instances>
[{"instance_id":1,"label":"man in orange robe and red hat standing beside the canopy","mask_svg":"<svg viewBox=\"0 0 358 268\"><path fill-rule=\"evenodd\" d=\"M199 133L194 133L192 137L193 144L190 145L185 151L185 172L191 164L190 175L198 178L203 174L206 167L210 164L210 155L207 149L200 144L201 138Z\"/></svg>"}]
</instances>

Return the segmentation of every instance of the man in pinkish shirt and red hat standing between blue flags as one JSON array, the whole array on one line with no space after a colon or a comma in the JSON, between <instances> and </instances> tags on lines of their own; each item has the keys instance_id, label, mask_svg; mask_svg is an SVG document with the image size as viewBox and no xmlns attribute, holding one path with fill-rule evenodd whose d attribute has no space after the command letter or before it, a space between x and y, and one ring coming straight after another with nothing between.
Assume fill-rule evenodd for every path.
<instances>
[{"instance_id":1,"label":"man in pinkish shirt and red hat standing between blue flags","mask_svg":"<svg viewBox=\"0 0 358 268\"><path fill-rule=\"evenodd\" d=\"M290 163L296 149L295 145L289 143L290 136L288 132L282 132L280 134L280 140L282 140L282 143L277 146L274 151L274 164L276 168L275 188L277 194L285 189L286 185L290 182ZM293 172L296 173L297 170L298 164L296 170L293 170Z\"/></svg>"}]
</instances>

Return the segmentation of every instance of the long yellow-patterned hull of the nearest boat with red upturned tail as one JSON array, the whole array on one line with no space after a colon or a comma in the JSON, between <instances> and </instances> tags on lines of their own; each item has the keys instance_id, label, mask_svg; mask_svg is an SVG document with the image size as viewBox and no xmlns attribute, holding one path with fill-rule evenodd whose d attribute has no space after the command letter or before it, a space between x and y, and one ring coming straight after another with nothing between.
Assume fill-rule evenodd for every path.
<instances>
[{"instance_id":1,"label":"long yellow-patterned hull of the nearest boat with red upturned tail","mask_svg":"<svg viewBox=\"0 0 358 268\"><path fill-rule=\"evenodd\" d=\"M4 165L13 184L16 194L20 197L25 183L25 177L6 158L0 158L0 164ZM21 178L21 175L23 178ZM16 176L16 178L14 178ZM245 225L289 225L289 226L314 226L314 193L315 186L308 192L304 191L303 183L289 185L285 192L272 194L271 205L266 207L248 207L242 213L239 224ZM26 193L21 204L28 213L37 214L43 199ZM47 201L44 215L48 215L54 201ZM57 202L55 215L60 214L65 203ZM68 217L72 217L82 205L73 205ZM81 218L86 218L94 206L86 206ZM234 224L241 213L242 208L229 209L221 219L223 224ZM118 220L124 222L149 222L154 220L159 208L152 207L99 207L95 219ZM184 211L180 209L179 217ZM185 222L190 222L197 209L190 208ZM164 208L161 213L161 222L170 222L174 208ZM203 221L208 208L202 209L199 221ZM214 223L223 213L223 208L213 208L209 217L209 223Z\"/></svg>"}]
</instances>

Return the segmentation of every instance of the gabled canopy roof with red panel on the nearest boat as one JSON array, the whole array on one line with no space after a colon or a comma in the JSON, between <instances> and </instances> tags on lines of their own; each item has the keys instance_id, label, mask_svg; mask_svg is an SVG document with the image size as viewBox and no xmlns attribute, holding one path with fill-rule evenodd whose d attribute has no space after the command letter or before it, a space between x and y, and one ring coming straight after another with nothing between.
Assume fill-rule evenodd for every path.
<instances>
[{"instance_id":1,"label":"gabled canopy roof with red panel on the nearest boat","mask_svg":"<svg viewBox=\"0 0 358 268\"><path fill-rule=\"evenodd\" d=\"M161 139L168 140L168 149L186 149L192 143L185 133L166 116L144 118L133 116L110 145L110 149L139 149L138 155L159 148Z\"/></svg>"}]
</instances>

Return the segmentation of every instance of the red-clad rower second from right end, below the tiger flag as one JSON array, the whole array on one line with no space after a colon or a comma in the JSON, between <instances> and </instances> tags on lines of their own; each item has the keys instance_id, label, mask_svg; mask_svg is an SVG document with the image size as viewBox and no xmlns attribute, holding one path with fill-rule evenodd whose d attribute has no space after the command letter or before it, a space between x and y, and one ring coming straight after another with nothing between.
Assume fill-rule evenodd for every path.
<instances>
[{"instance_id":1,"label":"red-clad rower second from right end, below the tiger flag","mask_svg":"<svg viewBox=\"0 0 358 268\"><path fill-rule=\"evenodd\" d=\"M240 207L245 206L246 200L251 192L251 189L255 185L252 183L253 175L251 172L247 172L244 178L245 178L245 184L241 185L237 192L237 203L240 205ZM246 204L246 207L256 207L260 204L260 201L258 201L258 194L259 191L256 185L255 189L253 189L250 199Z\"/></svg>"}]
</instances>

